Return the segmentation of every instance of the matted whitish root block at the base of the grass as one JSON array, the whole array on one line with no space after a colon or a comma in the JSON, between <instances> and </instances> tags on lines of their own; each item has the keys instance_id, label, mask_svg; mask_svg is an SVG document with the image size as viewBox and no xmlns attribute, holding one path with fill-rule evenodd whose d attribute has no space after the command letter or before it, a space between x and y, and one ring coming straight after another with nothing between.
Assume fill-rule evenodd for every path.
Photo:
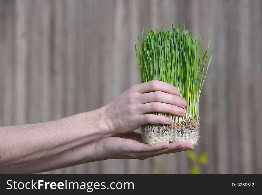
<instances>
[{"instance_id":1,"label":"matted whitish root block at the base of the grass","mask_svg":"<svg viewBox=\"0 0 262 195\"><path fill-rule=\"evenodd\" d=\"M174 122L166 124L145 124L141 127L142 139L148 145L154 145L161 142L182 141L197 145L199 139L199 120L188 120L181 124Z\"/></svg>"}]
</instances>

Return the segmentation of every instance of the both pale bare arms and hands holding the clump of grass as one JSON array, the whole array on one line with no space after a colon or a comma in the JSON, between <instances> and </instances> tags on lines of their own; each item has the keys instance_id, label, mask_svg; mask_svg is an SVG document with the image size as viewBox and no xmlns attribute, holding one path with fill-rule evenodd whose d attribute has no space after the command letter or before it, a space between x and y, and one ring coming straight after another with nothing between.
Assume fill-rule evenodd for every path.
<instances>
[{"instance_id":1,"label":"both pale bare arms and hands holding the clump of grass","mask_svg":"<svg viewBox=\"0 0 262 195\"><path fill-rule=\"evenodd\" d=\"M133 85L97 110L46 123L0 127L0 173L37 173L92 161L146 159L194 149L180 141L149 146L134 131L147 123L171 123L168 117L148 112L183 116L186 102L179 94L174 86L154 80Z\"/></svg>"}]
</instances>

